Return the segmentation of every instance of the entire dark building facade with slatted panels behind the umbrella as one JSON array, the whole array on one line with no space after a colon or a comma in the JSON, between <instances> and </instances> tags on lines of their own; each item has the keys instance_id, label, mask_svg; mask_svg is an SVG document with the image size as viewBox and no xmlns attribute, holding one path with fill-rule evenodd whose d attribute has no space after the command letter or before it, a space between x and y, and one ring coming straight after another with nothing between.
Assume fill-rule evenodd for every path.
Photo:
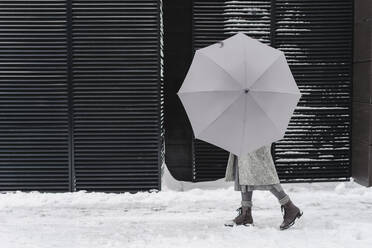
<instances>
[{"instance_id":1,"label":"entire dark building facade with slatted panels behind the umbrella","mask_svg":"<svg viewBox=\"0 0 372 248\"><path fill-rule=\"evenodd\" d=\"M371 9L0 0L0 191L160 190L164 160L179 180L223 177L228 153L194 139L176 92L194 51L237 31L284 51L303 93L273 147L281 181L370 186Z\"/></svg>"}]
</instances>

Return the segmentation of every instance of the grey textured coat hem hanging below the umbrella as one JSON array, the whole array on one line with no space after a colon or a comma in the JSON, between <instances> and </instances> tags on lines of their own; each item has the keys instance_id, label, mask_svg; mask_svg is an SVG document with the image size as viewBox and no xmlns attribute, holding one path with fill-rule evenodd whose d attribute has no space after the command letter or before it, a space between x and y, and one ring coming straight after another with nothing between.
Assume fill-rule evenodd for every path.
<instances>
[{"instance_id":1,"label":"grey textured coat hem hanging below the umbrella","mask_svg":"<svg viewBox=\"0 0 372 248\"><path fill-rule=\"evenodd\" d=\"M225 180L234 181L234 157L229 155ZM238 159L240 185L273 185L278 184L279 178L271 156L271 144L265 145Z\"/></svg>"}]
</instances>

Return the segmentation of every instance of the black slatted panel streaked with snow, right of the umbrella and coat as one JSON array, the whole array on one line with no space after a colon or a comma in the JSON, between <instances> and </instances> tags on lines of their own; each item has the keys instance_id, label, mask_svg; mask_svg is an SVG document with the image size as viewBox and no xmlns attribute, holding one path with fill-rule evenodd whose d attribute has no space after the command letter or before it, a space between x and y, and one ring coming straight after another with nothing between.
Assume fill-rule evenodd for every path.
<instances>
[{"instance_id":1,"label":"black slatted panel streaked with snow, right of the umbrella and coat","mask_svg":"<svg viewBox=\"0 0 372 248\"><path fill-rule=\"evenodd\" d=\"M275 162L282 180L350 177L352 0L276 0L275 45L303 96Z\"/></svg>"}]
</instances>

